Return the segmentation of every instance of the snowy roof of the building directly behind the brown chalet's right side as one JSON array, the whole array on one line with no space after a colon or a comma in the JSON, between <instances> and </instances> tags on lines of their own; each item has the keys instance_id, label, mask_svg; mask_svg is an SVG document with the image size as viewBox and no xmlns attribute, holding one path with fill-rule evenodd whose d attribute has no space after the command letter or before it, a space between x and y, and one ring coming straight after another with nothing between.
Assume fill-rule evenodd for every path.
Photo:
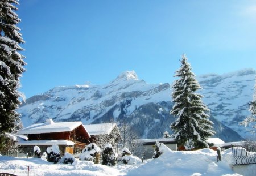
<instances>
[{"instance_id":1,"label":"snowy roof of the building directly behind the brown chalet's right side","mask_svg":"<svg viewBox=\"0 0 256 176\"><path fill-rule=\"evenodd\" d=\"M86 124L85 129L90 135L108 135L117 126L116 123Z\"/></svg>"}]
</instances>

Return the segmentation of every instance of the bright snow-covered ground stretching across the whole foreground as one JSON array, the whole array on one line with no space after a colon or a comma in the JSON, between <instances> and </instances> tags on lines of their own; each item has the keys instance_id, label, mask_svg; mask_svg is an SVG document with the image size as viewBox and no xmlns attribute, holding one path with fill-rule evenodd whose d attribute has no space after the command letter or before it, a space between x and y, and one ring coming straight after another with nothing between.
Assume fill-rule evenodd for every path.
<instances>
[{"instance_id":1,"label":"bright snow-covered ground stretching across the whole foreground","mask_svg":"<svg viewBox=\"0 0 256 176\"><path fill-rule=\"evenodd\" d=\"M134 165L118 164L105 166L90 161L76 160L73 164L53 164L44 158L15 158L0 156L0 173L27 175L30 166L32 175L256 175L255 165L234 166L232 151L222 152L222 161L216 161L216 151L171 151L163 147L164 153L156 159L145 160ZM239 174L238 174L239 173Z\"/></svg>"}]
</instances>

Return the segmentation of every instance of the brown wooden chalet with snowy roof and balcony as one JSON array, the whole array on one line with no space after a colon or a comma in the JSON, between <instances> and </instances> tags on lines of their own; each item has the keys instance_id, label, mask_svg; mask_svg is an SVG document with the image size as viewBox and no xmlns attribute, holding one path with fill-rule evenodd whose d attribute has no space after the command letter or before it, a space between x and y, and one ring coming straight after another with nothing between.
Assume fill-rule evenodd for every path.
<instances>
[{"instance_id":1,"label":"brown wooden chalet with snowy roof and balcony","mask_svg":"<svg viewBox=\"0 0 256 176\"><path fill-rule=\"evenodd\" d=\"M35 145L38 145L41 151L46 151L48 146L57 144L63 154L83 149L90 143L91 137L82 122L53 122L52 119L23 128L17 135L27 135L28 141L17 143L27 153L33 153Z\"/></svg>"}]
</instances>

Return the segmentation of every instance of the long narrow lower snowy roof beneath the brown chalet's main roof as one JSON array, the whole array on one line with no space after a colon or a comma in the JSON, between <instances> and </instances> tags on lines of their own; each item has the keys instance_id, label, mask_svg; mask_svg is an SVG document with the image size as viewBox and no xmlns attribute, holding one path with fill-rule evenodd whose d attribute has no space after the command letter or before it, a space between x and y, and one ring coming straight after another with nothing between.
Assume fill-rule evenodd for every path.
<instances>
[{"instance_id":1,"label":"long narrow lower snowy roof beneath the brown chalet's main roof","mask_svg":"<svg viewBox=\"0 0 256 176\"><path fill-rule=\"evenodd\" d=\"M30 140L30 141L18 141L18 146L35 146L35 145L68 145L73 146L74 143L69 140Z\"/></svg>"}]
</instances>

